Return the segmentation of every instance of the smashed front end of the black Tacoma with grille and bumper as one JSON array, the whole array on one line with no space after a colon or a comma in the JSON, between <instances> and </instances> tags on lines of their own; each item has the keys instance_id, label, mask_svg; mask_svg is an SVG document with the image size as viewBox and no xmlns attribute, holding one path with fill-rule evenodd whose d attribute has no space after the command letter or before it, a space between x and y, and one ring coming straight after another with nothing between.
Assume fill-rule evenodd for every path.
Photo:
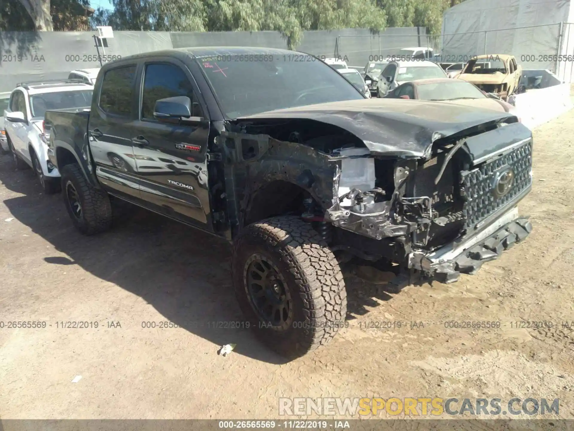
<instances>
[{"instance_id":1,"label":"smashed front end of the black Tacoma with grille and bumper","mask_svg":"<svg viewBox=\"0 0 574 431\"><path fill-rule=\"evenodd\" d=\"M532 145L530 130L502 122L438 137L425 157L341 153L325 220L363 241L339 234L334 247L351 240L355 255L447 283L474 274L532 230L516 207L532 187Z\"/></svg>"}]
</instances>

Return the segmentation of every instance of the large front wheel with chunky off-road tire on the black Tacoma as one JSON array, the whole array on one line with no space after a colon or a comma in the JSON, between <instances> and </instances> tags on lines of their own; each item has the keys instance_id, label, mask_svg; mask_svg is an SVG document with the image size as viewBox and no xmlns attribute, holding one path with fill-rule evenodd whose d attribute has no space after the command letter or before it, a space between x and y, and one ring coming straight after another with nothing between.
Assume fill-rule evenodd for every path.
<instances>
[{"instance_id":1,"label":"large front wheel with chunky off-road tire on the black Tacoma","mask_svg":"<svg viewBox=\"0 0 574 431\"><path fill-rule=\"evenodd\" d=\"M249 326L280 355L303 356L345 325L347 293L339 264L299 218L247 226L235 240L231 267Z\"/></svg>"}]
</instances>

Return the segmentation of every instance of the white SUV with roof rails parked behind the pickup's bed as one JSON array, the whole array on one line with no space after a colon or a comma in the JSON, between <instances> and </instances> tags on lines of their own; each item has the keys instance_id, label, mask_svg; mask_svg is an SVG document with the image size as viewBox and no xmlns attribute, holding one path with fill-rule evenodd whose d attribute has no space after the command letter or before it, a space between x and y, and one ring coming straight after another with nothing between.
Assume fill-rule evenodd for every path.
<instances>
[{"instance_id":1,"label":"white SUV with roof rails parked behind the pickup's bed","mask_svg":"<svg viewBox=\"0 0 574 431\"><path fill-rule=\"evenodd\" d=\"M91 84L54 80L18 84L10 95L4 110L8 147L16 168L33 168L45 193L60 191L60 173L48 160L44 113L48 109L86 109L93 90Z\"/></svg>"}]
</instances>

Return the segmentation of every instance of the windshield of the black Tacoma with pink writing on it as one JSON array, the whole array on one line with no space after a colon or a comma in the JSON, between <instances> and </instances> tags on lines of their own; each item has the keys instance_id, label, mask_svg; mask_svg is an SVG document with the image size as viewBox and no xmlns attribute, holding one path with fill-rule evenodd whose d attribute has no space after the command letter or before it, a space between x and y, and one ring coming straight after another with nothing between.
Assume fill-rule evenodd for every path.
<instances>
[{"instance_id":1,"label":"windshield of the black Tacoma with pink writing on it","mask_svg":"<svg viewBox=\"0 0 574 431\"><path fill-rule=\"evenodd\" d=\"M238 118L294 106L363 99L354 86L323 61L293 61L287 55L269 57L272 60L198 58L226 117ZM225 56L219 58L224 59Z\"/></svg>"}]
</instances>

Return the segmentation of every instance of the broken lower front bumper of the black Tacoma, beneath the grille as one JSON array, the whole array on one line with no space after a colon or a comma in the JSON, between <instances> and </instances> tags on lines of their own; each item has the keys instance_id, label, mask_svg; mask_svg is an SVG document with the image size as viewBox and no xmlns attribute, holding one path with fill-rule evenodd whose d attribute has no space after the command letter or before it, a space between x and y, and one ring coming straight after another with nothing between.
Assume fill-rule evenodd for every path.
<instances>
[{"instance_id":1,"label":"broken lower front bumper of the black Tacoma, beneath the grille","mask_svg":"<svg viewBox=\"0 0 574 431\"><path fill-rule=\"evenodd\" d=\"M461 273L475 274L484 262L497 259L531 231L528 217L518 217L518 208L514 207L463 243L448 244L433 252L410 253L409 268L444 283L456 282Z\"/></svg>"}]
</instances>

